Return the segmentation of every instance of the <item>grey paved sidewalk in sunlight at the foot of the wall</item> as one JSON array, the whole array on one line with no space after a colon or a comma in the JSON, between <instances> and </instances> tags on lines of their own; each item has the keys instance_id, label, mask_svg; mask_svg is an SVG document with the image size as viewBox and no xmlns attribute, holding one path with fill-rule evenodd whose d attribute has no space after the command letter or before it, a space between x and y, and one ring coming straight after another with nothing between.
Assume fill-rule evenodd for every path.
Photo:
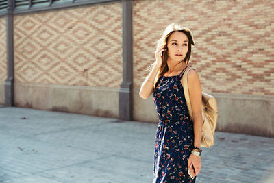
<instances>
[{"instance_id":1,"label":"grey paved sidewalk in sunlight at the foot of the wall","mask_svg":"<svg viewBox=\"0 0 274 183\"><path fill-rule=\"evenodd\" d=\"M0 108L0 182L152 182L157 123ZM274 182L274 138L215 133L197 182Z\"/></svg>"}]
</instances>

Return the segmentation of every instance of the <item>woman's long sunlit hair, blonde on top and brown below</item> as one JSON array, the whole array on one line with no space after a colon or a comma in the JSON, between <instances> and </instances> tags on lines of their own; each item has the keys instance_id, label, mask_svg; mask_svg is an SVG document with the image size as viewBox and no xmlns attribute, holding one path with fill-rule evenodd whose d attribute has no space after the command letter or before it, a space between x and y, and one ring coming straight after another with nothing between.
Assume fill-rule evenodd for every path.
<instances>
[{"instance_id":1,"label":"woman's long sunlit hair, blonde on top and brown below","mask_svg":"<svg viewBox=\"0 0 274 183\"><path fill-rule=\"evenodd\" d=\"M162 33L161 38L157 41L156 48L160 47L161 45L166 45L167 41L169 40L169 36L171 36L171 34L176 31L183 32L184 34L186 34L186 36L188 36L188 40L190 42L190 44L188 44L188 53L186 53L186 57L184 58L184 60L182 60L182 62L184 61L186 64L188 64L188 62L190 62L191 47L192 47L192 45L195 45L195 42L193 40L193 36L192 36L190 29L188 29L186 27L182 27L179 24L171 23L169 26L166 27L166 29L164 29L164 32ZM167 49L167 47L166 47L166 49ZM160 66L160 69L155 77L153 90L155 88L156 82L158 82L158 79L160 77L162 77L162 75L164 75L164 73L169 71L169 66L167 65L167 58L168 58L168 55L167 55L167 50L166 50L162 53L162 65ZM179 62L179 63L181 63L181 62ZM153 64L151 64L151 66L149 66L149 71L151 71L154 66L155 66L155 62L153 62Z\"/></svg>"}]
</instances>

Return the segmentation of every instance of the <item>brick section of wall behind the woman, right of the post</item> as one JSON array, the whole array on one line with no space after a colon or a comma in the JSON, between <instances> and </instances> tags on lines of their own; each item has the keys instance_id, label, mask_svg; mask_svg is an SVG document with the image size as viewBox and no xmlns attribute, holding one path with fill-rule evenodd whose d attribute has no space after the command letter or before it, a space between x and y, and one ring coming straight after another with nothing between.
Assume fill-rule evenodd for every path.
<instances>
[{"instance_id":1,"label":"brick section of wall behind the woman, right of the post","mask_svg":"<svg viewBox=\"0 0 274 183\"><path fill-rule=\"evenodd\" d=\"M169 23L192 30L203 91L274 95L274 1L134 1L134 88Z\"/></svg>"}]
</instances>

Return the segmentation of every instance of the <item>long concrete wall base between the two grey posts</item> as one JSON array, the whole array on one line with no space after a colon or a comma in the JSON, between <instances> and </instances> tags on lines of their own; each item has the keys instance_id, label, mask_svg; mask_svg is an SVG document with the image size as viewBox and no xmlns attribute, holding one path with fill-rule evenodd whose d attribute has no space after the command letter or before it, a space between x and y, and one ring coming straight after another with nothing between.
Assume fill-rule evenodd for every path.
<instances>
[{"instance_id":1,"label":"long concrete wall base between the two grey posts","mask_svg":"<svg viewBox=\"0 0 274 183\"><path fill-rule=\"evenodd\" d=\"M14 88L19 107L119 117L118 88L25 83Z\"/></svg>"}]
</instances>

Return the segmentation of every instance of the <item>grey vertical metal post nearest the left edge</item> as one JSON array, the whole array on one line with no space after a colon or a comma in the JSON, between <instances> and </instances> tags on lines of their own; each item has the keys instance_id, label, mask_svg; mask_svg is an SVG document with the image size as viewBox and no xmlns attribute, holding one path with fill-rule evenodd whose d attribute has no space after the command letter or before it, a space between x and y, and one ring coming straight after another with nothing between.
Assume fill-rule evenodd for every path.
<instances>
[{"instance_id":1,"label":"grey vertical metal post nearest the left edge","mask_svg":"<svg viewBox=\"0 0 274 183\"><path fill-rule=\"evenodd\" d=\"M5 106L14 106L14 45L13 45L14 0L8 0L6 23L7 79L5 80Z\"/></svg>"}]
</instances>

